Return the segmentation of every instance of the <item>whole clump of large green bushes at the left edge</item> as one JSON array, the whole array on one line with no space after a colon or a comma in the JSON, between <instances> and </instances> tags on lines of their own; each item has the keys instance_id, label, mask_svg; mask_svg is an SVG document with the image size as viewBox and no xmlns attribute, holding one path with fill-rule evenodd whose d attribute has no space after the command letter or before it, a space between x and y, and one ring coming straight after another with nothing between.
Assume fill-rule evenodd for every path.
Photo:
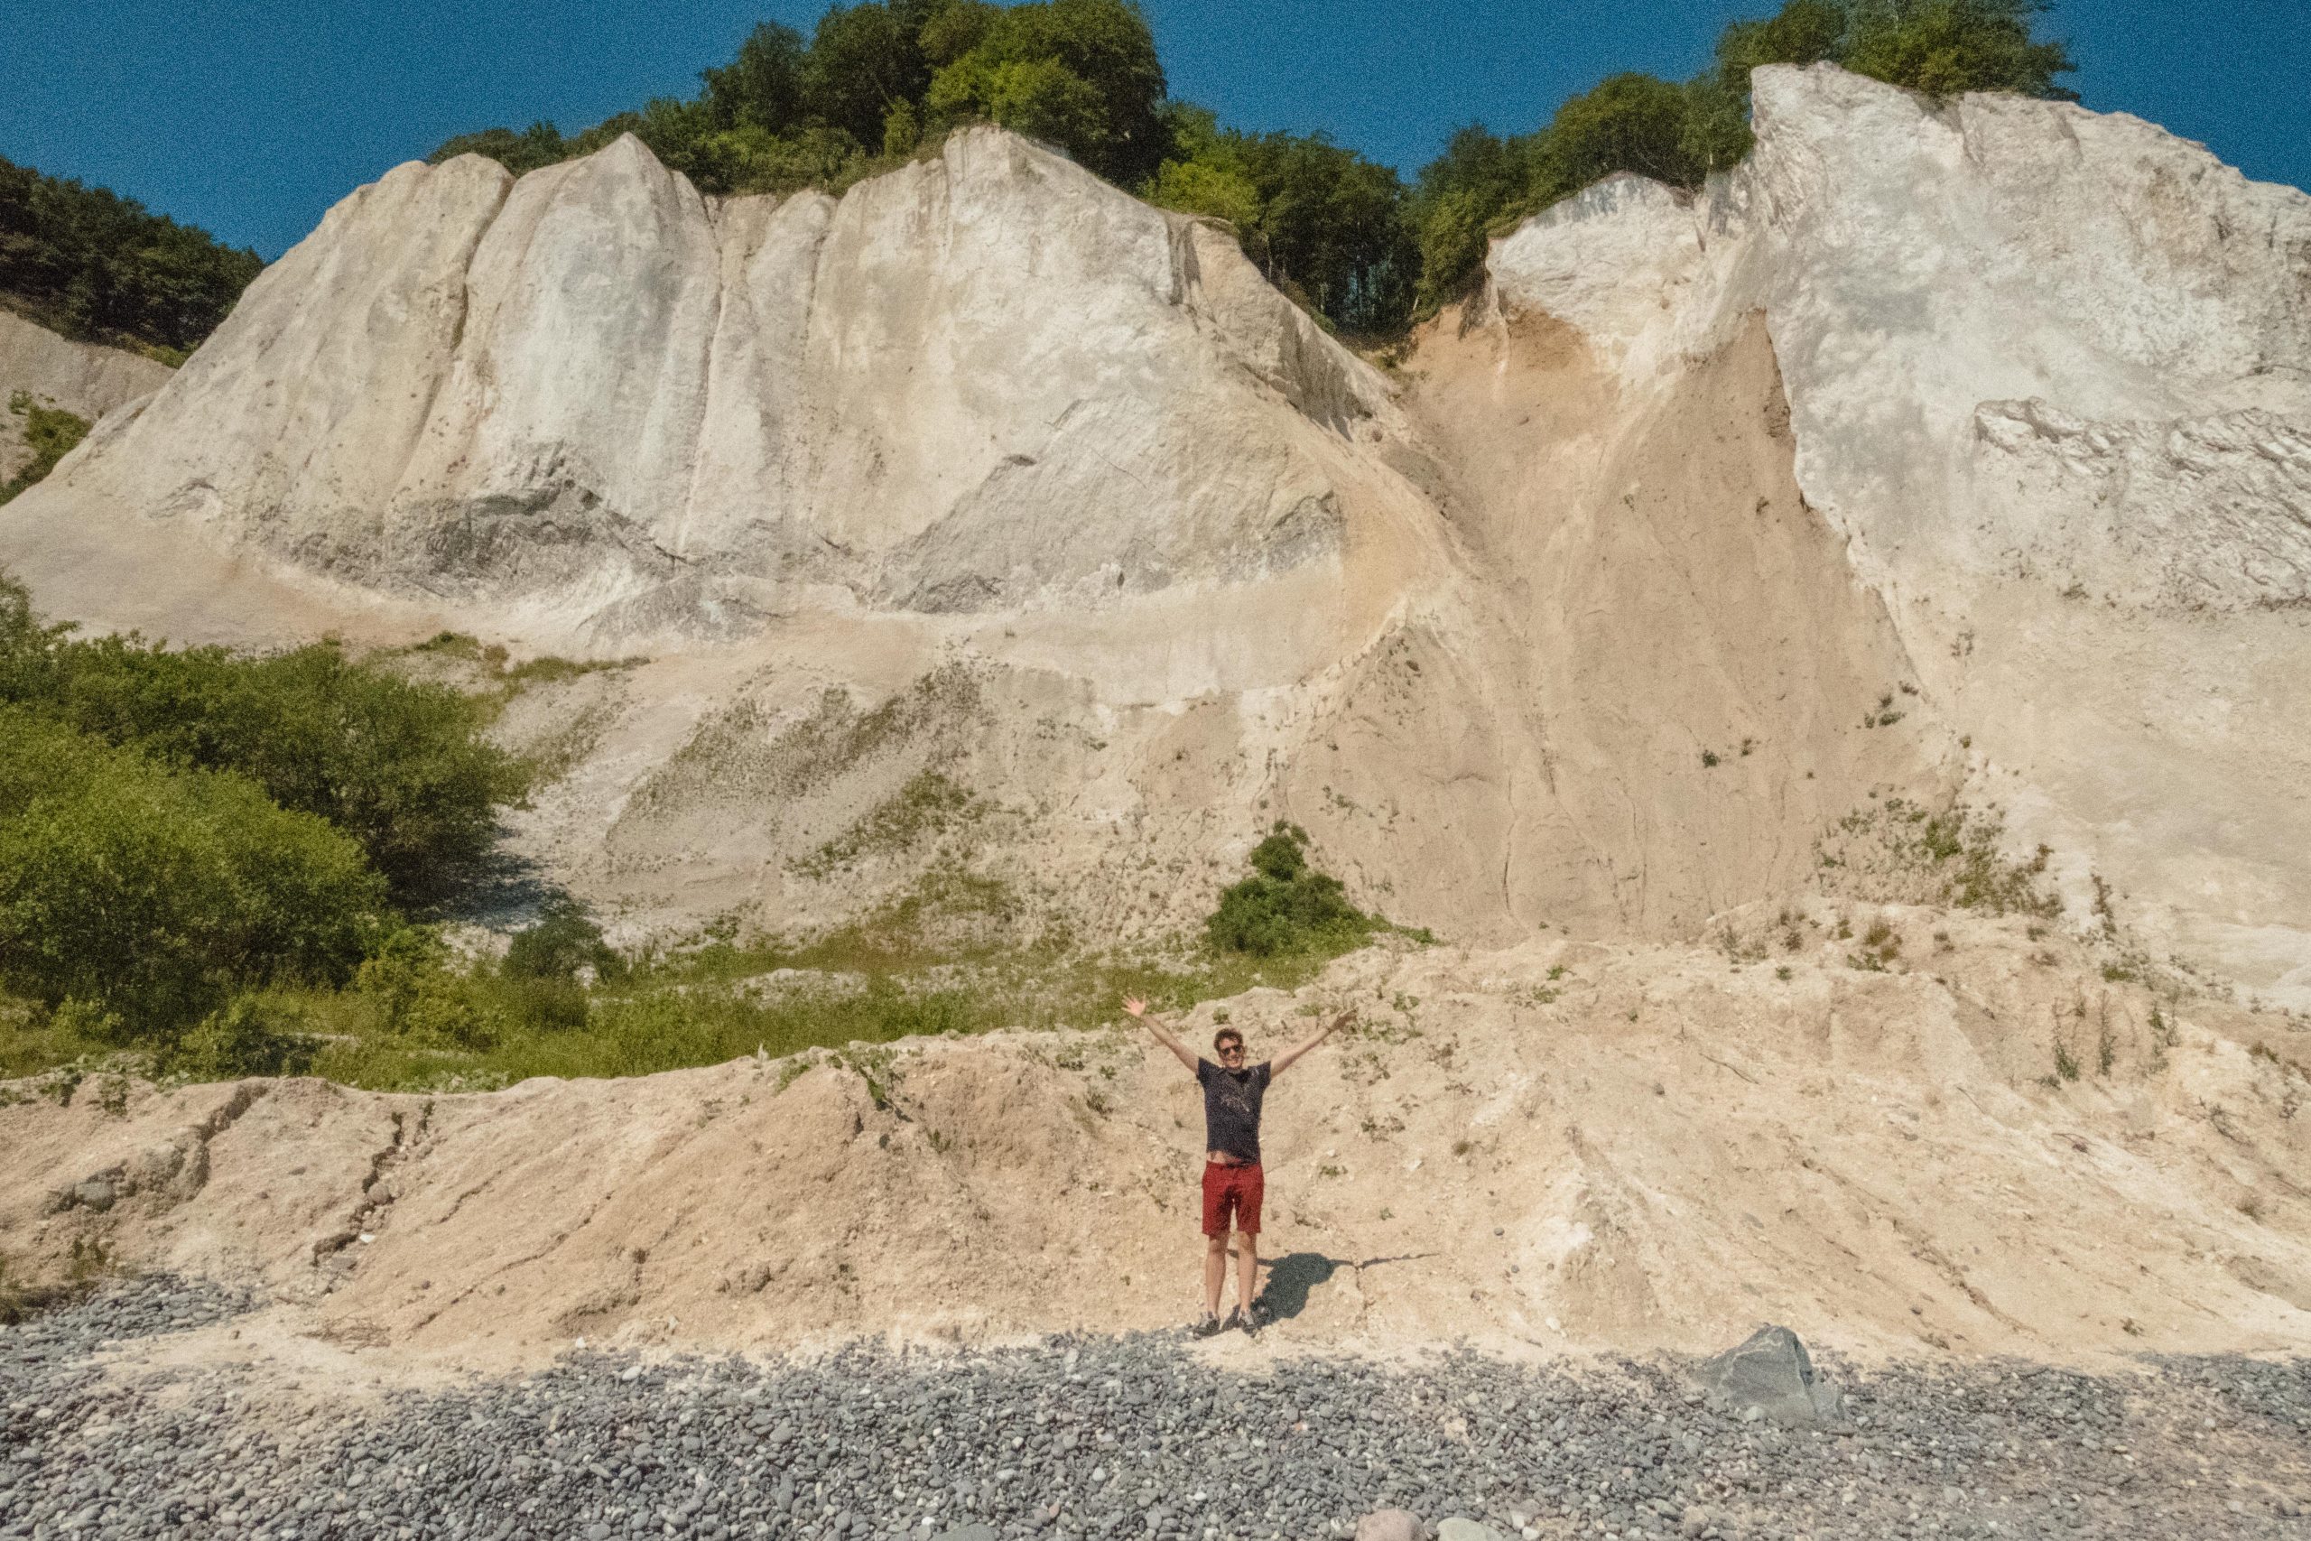
<instances>
[{"instance_id":1,"label":"whole clump of large green bushes at the left edge","mask_svg":"<svg viewBox=\"0 0 2311 1541\"><path fill-rule=\"evenodd\" d=\"M418 945L400 908L455 892L527 786L485 721L326 645L79 640L0 578L0 1065L296 1063L310 1044L250 991L344 987Z\"/></svg>"}]
</instances>

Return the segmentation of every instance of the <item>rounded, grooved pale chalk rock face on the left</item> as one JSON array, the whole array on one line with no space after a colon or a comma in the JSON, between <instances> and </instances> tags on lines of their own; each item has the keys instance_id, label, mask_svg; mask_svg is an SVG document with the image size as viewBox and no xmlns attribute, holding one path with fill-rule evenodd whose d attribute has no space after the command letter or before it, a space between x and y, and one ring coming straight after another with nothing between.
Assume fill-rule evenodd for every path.
<instances>
[{"instance_id":1,"label":"rounded, grooved pale chalk rock face on the left","mask_svg":"<svg viewBox=\"0 0 2311 1541\"><path fill-rule=\"evenodd\" d=\"M841 201L707 201L629 136L363 187L67 481L538 640L728 638L797 585L1299 566L1340 543L1317 441L1384 411L1223 231L1010 134Z\"/></svg>"}]
</instances>

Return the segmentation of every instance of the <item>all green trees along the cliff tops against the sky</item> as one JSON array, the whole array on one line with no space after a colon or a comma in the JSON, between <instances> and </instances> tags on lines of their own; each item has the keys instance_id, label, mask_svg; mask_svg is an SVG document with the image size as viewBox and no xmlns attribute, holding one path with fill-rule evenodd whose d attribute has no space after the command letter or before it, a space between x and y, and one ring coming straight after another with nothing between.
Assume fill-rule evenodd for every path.
<instances>
[{"instance_id":1,"label":"all green trees along the cliff tops against the sky","mask_svg":"<svg viewBox=\"0 0 2311 1541\"><path fill-rule=\"evenodd\" d=\"M1461 129L1412 187L1324 134L1243 134L1167 95L1132 0L864 0L811 37L758 25L696 97L656 97L575 134L550 122L441 143L536 171L636 134L703 192L841 192L966 122L1052 143L1139 196L1234 224L1243 250L1327 323L1391 337L1458 298L1491 233L1618 171L1699 187L1749 150L1749 72L1835 60L1950 95L2071 97L2045 0L1786 0L1736 21L1685 83L1615 74L1518 136ZM0 300L72 337L180 363L263 268L102 187L0 159Z\"/></svg>"}]
</instances>

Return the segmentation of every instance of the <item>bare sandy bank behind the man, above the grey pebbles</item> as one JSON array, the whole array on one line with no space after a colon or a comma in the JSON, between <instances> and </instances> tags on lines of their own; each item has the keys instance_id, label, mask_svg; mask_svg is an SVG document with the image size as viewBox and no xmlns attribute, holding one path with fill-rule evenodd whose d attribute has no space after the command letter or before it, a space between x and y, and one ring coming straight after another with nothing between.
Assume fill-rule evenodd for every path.
<instances>
[{"instance_id":1,"label":"bare sandy bank behind the man, above the grey pebbles","mask_svg":"<svg viewBox=\"0 0 2311 1541\"><path fill-rule=\"evenodd\" d=\"M1837 929L1879 917L1902 950L1856 968ZM1712 936L1368 950L1199 1007L1192 1037L1227 1012L1255 1054L1361 1014L1271 1093L1283 1322L1229 1352L1715 1349L1766 1319L1858 1356L2311 1342L2290 1019L2195 993L2154 1021L2108 952L2022 920L1816 899ZM453 1097L12 1090L0 1252L257 1282L280 1305L233 1331L284 1384L580 1338L1151 1328L1197 1289L1197 1090L1123 1028Z\"/></svg>"}]
</instances>

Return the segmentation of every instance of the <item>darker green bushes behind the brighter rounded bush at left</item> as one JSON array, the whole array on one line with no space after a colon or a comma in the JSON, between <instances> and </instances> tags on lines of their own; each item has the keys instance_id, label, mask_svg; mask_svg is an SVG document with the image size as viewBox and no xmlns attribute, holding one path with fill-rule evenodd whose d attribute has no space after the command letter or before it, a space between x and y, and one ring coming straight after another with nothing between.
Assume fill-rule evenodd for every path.
<instances>
[{"instance_id":1,"label":"darker green bushes behind the brighter rounded bush at left","mask_svg":"<svg viewBox=\"0 0 2311 1541\"><path fill-rule=\"evenodd\" d=\"M488 705L319 642L240 656L44 628L0 580L0 702L166 765L236 772L354 836L400 903L448 896L488 857L527 769L481 737Z\"/></svg>"}]
</instances>

